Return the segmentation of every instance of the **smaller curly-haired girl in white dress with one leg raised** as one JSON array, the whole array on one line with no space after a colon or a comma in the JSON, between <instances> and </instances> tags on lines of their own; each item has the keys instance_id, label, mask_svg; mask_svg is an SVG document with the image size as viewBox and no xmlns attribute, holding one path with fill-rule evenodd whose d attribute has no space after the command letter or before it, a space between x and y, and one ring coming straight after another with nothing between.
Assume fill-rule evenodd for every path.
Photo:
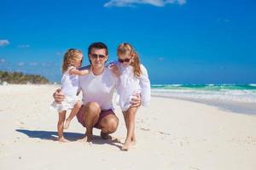
<instances>
[{"instance_id":1,"label":"smaller curly-haired girl in white dress with one leg raised","mask_svg":"<svg viewBox=\"0 0 256 170\"><path fill-rule=\"evenodd\" d=\"M82 64L82 59L83 54L78 49L68 49L64 55L62 64L63 76L61 78L61 92L65 95L65 99L61 102L61 104L55 102L52 104L55 110L59 112L57 129L59 136L58 140L60 142L68 142L68 140L63 136L63 128L67 129L69 127L69 123L72 121L73 117L76 116L82 106L77 96L79 95L79 76L89 73L88 70L78 70ZM67 110L72 111L65 122Z\"/></svg>"}]
</instances>

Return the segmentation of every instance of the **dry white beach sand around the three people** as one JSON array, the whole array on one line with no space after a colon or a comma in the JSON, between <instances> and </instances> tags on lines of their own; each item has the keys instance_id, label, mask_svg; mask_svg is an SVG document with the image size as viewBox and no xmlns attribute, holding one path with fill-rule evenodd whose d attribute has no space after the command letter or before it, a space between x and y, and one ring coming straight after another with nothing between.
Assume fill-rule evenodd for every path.
<instances>
[{"instance_id":1,"label":"dry white beach sand around the three people","mask_svg":"<svg viewBox=\"0 0 256 170\"><path fill-rule=\"evenodd\" d=\"M137 112L137 147L84 134L75 119L67 139L55 141L57 113L49 109L56 86L0 86L0 169L256 169L256 116L177 99L153 98ZM125 139L119 109L119 129Z\"/></svg>"}]
</instances>

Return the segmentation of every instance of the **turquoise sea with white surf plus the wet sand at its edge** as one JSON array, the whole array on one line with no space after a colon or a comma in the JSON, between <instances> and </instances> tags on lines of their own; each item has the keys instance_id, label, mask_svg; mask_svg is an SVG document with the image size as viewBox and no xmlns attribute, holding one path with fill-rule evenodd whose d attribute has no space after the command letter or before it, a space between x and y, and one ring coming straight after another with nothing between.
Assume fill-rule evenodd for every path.
<instances>
[{"instance_id":1,"label":"turquoise sea with white surf plus the wet sand at its edge","mask_svg":"<svg viewBox=\"0 0 256 170\"><path fill-rule=\"evenodd\" d=\"M256 115L256 83L154 84L152 96L185 99L223 110Z\"/></svg>"}]
</instances>

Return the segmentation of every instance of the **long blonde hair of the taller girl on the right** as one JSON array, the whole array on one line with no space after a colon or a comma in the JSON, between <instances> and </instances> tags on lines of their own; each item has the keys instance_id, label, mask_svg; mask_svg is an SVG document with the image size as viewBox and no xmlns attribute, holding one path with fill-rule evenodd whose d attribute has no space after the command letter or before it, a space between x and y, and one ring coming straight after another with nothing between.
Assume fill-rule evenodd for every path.
<instances>
[{"instance_id":1,"label":"long blonde hair of the taller girl on the right","mask_svg":"<svg viewBox=\"0 0 256 170\"><path fill-rule=\"evenodd\" d=\"M124 42L119 44L118 50L117 50L118 55L130 55L132 57L131 60L131 66L133 67L133 73L136 77L140 77L142 74L141 70L141 63L138 54L134 50L134 48L131 46L130 43Z\"/></svg>"}]
</instances>

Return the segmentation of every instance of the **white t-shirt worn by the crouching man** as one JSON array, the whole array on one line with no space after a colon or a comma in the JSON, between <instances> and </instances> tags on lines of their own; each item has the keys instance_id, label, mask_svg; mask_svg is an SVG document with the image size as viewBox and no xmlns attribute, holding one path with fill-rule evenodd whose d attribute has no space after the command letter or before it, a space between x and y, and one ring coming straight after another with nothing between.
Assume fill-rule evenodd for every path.
<instances>
[{"instance_id":1,"label":"white t-shirt worn by the crouching man","mask_svg":"<svg viewBox=\"0 0 256 170\"><path fill-rule=\"evenodd\" d=\"M79 88L83 91L83 105L96 102L103 111L113 109L112 99L117 79L108 67L105 67L99 76L90 71L88 75L79 77Z\"/></svg>"}]
</instances>

